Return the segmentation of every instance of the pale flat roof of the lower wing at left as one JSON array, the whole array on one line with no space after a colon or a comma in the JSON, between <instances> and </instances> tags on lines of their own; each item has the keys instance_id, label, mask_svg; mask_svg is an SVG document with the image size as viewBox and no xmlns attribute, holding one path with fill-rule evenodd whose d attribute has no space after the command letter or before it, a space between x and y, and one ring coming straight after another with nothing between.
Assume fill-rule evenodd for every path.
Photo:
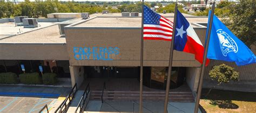
<instances>
[{"instance_id":1,"label":"pale flat roof of the lower wing at left","mask_svg":"<svg viewBox=\"0 0 256 113\"><path fill-rule=\"evenodd\" d=\"M14 22L0 24L0 43L66 43L65 37L60 37L59 23L75 23L81 18L63 22L38 22L39 27L24 28L15 26ZM21 31L21 33L19 33Z\"/></svg>"}]
</instances>

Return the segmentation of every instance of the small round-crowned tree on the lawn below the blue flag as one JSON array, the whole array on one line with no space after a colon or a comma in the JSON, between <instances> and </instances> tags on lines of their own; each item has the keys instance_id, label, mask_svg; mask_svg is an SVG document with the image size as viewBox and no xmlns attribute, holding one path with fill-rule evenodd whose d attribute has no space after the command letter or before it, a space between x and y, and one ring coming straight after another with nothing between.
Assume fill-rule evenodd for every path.
<instances>
[{"instance_id":1,"label":"small round-crowned tree on the lawn below the blue flag","mask_svg":"<svg viewBox=\"0 0 256 113\"><path fill-rule=\"evenodd\" d=\"M217 86L219 86L222 83L228 83L231 80L232 81L238 81L239 80L239 72L234 71L234 68L225 64L213 66L213 69L209 72L209 75L212 80L218 81ZM213 86L206 96L210 94L212 89L215 88Z\"/></svg>"}]
</instances>

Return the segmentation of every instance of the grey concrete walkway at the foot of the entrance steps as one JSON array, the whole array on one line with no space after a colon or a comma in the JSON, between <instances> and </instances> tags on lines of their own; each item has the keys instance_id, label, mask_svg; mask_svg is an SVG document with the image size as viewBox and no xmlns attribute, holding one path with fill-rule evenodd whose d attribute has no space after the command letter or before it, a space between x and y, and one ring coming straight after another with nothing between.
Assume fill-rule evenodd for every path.
<instances>
[{"instance_id":1,"label":"grey concrete walkway at the foot of the entrance steps","mask_svg":"<svg viewBox=\"0 0 256 113\"><path fill-rule=\"evenodd\" d=\"M138 112L138 101L89 101L85 112ZM164 102L144 101L143 112L164 112ZM168 112L194 112L194 103L169 102ZM199 110L199 112L201 112Z\"/></svg>"}]
</instances>

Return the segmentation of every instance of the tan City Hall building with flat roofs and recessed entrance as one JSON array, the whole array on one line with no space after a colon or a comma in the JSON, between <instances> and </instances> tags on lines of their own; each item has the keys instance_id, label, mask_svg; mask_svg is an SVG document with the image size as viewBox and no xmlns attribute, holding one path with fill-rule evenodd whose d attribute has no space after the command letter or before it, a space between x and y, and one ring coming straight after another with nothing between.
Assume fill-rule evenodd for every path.
<instances>
[{"instance_id":1,"label":"tan City Hall building with flat roofs and recessed entrance","mask_svg":"<svg viewBox=\"0 0 256 113\"><path fill-rule=\"evenodd\" d=\"M173 14L161 15L173 20ZM205 42L205 25L208 18L184 15L191 22L201 42ZM58 22L61 19L63 22ZM50 20L55 22L43 22ZM86 20L38 19L41 27L24 28L23 33L18 34L19 28L13 26L10 21L12 20L0 24L1 31L5 29L4 33L0 34L0 72L22 73L21 64L25 65L25 72L39 72L38 65L44 65L44 72L55 72L59 78L71 79L72 86L77 84L82 89L86 86L85 82L90 81L90 84L97 82L96 89L102 89L104 80L120 82L120 79L132 79L125 83L121 81L121 88L126 87L124 84L129 82L139 82L140 17L122 17L120 13L113 13L91 14L90 19ZM58 24L65 23L69 25L58 27ZM63 28L65 35L60 32ZM164 91L166 87L170 44L168 41L144 41L143 84L149 91ZM207 72L212 66L220 63L224 62L211 62L207 67L205 79L210 79ZM171 77L173 91L185 87L192 95L196 94L200 66L192 54L174 51ZM246 70L240 72L243 80L255 81L255 67L255 64L251 64L236 68ZM118 90L118 87L115 86L112 90Z\"/></svg>"}]
</instances>

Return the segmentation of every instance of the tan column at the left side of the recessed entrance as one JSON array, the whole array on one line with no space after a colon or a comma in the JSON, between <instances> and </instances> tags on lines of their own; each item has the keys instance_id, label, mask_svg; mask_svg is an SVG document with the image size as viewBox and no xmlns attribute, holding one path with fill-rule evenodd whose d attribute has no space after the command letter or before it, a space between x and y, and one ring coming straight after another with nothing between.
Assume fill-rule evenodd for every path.
<instances>
[{"instance_id":1,"label":"tan column at the left side of the recessed entrance","mask_svg":"<svg viewBox=\"0 0 256 113\"><path fill-rule=\"evenodd\" d=\"M79 88L84 81L84 67L83 66L69 66L72 87L77 83Z\"/></svg>"}]
</instances>

